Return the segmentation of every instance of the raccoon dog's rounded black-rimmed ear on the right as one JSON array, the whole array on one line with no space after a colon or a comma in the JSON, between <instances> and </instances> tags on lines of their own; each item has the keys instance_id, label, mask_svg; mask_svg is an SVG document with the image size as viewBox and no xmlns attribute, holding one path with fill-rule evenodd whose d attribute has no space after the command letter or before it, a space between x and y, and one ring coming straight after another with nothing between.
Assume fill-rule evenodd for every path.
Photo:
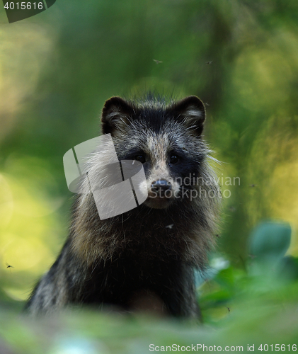
<instances>
[{"instance_id":1,"label":"raccoon dog's rounded black-rimmed ear on the right","mask_svg":"<svg viewBox=\"0 0 298 354\"><path fill-rule=\"evenodd\" d=\"M205 105L197 96L188 96L172 107L178 120L183 122L188 131L196 136L202 134L206 118Z\"/></svg>"}]
</instances>

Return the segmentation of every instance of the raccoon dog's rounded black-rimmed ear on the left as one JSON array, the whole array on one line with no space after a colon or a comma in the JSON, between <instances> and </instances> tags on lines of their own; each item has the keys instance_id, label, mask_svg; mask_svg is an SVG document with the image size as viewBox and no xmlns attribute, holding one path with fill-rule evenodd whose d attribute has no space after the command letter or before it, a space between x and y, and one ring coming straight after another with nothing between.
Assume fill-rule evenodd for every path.
<instances>
[{"instance_id":1,"label":"raccoon dog's rounded black-rimmed ear on the left","mask_svg":"<svg viewBox=\"0 0 298 354\"><path fill-rule=\"evenodd\" d=\"M105 101L103 114L101 115L101 127L103 134L121 131L130 122L134 114L132 106L120 97L112 97Z\"/></svg>"}]
</instances>

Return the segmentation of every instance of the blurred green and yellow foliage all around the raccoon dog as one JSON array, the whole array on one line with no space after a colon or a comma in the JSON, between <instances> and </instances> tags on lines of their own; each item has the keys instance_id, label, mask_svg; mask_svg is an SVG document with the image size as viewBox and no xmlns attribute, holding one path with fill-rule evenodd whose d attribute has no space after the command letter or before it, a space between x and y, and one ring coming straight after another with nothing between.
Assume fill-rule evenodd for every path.
<instances>
[{"instance_id":1,"label":"blurred green and yellow foliage all around the raccoon dog","mask_svg":"<svg viewBox=\"0 0 298 354\"><path fill-rule=\"evenodd\" d=\"M8 346L72 353L67 341L81 338L84 353L148 353L149 338L156 345L294 343L298 2L57 0L12 24L1 11L0 333ZM223 161L222 190L231 192L213 270L200 280L206 325L88 310L38 324L17 317L67 237L72 195L63 154L100 134L106 99L147 90L202 98L205 137ZM230 185L236 177L240 183ZM273 237L284 242L275 251L287 249L290 227L270 222L251 234L268 219L293 230L286 256L269 257L278 258L274 265L259 260L274 249Z\"/></svg>"}]
</instances>

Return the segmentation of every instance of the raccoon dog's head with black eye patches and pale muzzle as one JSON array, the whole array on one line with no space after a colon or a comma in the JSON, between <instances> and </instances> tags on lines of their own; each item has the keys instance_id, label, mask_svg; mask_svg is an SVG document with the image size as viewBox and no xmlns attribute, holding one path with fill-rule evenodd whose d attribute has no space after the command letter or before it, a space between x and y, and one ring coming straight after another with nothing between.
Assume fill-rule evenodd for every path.
<instances>
[{"instance_id":1,"label":"raccoon dog's head with black eye patches and pale muzzle","mask_svg":"<svg viewBox=\"0 0 298 354\"><path fill-rule=\"evenodd\" d=\"M151 208L164 209L183 200L191 178L201 176L207 148L202 141L205 106L196 96L166 103L162 98L105 102L102 131L113 137L118 159L142 162L146 183L140 185Z\"/></svg>"}]
</instances>

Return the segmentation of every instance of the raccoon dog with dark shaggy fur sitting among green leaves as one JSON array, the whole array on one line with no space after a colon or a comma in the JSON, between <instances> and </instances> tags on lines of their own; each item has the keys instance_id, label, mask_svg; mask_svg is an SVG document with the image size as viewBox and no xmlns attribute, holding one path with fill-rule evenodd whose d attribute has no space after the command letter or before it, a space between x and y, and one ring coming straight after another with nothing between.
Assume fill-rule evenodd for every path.
<instances>
[{"instance_id":1,"label":"raccoon dog with dark shaggy fur sitting among green leaves","mask_svg":"<svg viewBox=\"0 0 298 354\"><path fill-rule=\"evenodd\" d=\"M199 316L194 269L204 269L214 244L220 200L202 139L202 101L113 97L105 102L101 122L118 159L142 163L146 183L139 188L147 200L100 219L93 195L78 195L69 237L33 290L28 311L92 304ZM88 178L101 178L103 159L93 154Z\"/></svg>"}]
</instances>

